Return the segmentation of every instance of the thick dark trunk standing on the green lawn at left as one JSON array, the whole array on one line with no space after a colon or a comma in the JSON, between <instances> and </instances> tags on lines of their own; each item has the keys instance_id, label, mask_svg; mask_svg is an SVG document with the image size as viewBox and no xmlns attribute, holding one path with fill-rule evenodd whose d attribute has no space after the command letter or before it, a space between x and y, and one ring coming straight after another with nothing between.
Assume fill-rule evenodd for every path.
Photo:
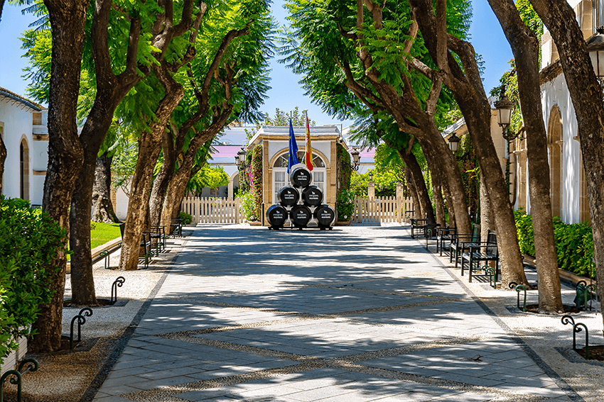
<instances>
[{"instance_id":1,"label":"thick dark trunk standing on the green lawn at left","mask_svg":"<svg viewBox=\"0 0 604 402\"><path fill-rule=\"evenodd\" d=\"M107 152L97 157L95 185L92 187L92 220L104 223L119 223L111 201L111 162Z\"/></svg>"}]
</instances>

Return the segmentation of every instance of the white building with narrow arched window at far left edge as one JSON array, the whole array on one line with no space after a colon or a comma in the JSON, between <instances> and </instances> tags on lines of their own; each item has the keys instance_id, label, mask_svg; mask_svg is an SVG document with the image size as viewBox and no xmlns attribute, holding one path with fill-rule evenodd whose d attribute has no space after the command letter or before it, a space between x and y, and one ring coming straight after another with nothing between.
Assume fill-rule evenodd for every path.
<instances>
[{"instance_id":1,"label":"white building with narrow arched window at far left edge","mask_svg":"<svg viewBox=\"0 0 604 402\"><path fill-rule=\"evenodd\" d=\"M6 146L2 194L42 204L48 165L47 111L0 87L0 135Z\"/></svg>"}]
</instances>

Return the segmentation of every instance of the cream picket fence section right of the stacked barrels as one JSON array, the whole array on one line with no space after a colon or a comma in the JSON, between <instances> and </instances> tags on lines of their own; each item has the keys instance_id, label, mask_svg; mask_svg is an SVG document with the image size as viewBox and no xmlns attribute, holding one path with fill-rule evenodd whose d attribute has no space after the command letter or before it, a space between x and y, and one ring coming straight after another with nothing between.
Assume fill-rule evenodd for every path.
<instances>
[{"instance_id":1,"label":"cream picket fence section right of the stacked barrels","mask_svg":"<svg viewBox=\"0 0 604 402\"><path fill-rule=\"evenodd\" d=\"M407 211L413 211L411 197L376 197L357 199L352 213L352 222L356 223L402 223Z\"/></svg>"}]
</instances>

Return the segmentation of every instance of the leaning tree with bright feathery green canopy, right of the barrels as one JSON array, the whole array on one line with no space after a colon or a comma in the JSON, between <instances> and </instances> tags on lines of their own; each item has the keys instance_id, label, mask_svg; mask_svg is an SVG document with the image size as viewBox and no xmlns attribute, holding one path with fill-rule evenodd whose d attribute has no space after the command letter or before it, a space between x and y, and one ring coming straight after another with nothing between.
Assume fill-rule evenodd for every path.
<instances>
[{"instance_id":1,"label":"leaning tree with bright feathery green canopy, right of the barrels","mask_svg":"<svg viewBox=\"0 0 604 402\"><path fill-rule=\"evenodd\" d=\"M308 93L336 114L350 112L349 94L353 94L376 115L394 117L399 130L421 144L433 176L447 178L449 205L457 211L458 228L469 232L457 162L435 123L439 100L446 92L441 91L438 74L424 74L429 70L421 61L426 52L421 40L415 40L411 9L387 1L357 1L355 7L292 0L287 6L293 31L284 48L285 61L305 76ZM454 13L451 21L465 16Z\"/></svg>"}]
</instances>

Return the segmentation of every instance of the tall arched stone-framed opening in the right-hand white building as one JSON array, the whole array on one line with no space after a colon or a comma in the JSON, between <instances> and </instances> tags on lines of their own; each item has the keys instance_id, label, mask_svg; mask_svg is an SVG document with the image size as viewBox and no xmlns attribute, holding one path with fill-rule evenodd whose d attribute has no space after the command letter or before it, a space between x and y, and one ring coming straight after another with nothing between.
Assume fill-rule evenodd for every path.
<instances>
[{"instance_id":1,"label":"tall arched stone-framed opening in the right-hand white building","mask_svg":"<svg viewBox=\"0 0 604 402\"><path fill-rule=\"evenodd\" d=\"M551 196L551 214L562 218L562 116L560 108L554 106L549 113L547 124L547 151L549 156L549 194Z\"/></svg>"}]
</instances>

